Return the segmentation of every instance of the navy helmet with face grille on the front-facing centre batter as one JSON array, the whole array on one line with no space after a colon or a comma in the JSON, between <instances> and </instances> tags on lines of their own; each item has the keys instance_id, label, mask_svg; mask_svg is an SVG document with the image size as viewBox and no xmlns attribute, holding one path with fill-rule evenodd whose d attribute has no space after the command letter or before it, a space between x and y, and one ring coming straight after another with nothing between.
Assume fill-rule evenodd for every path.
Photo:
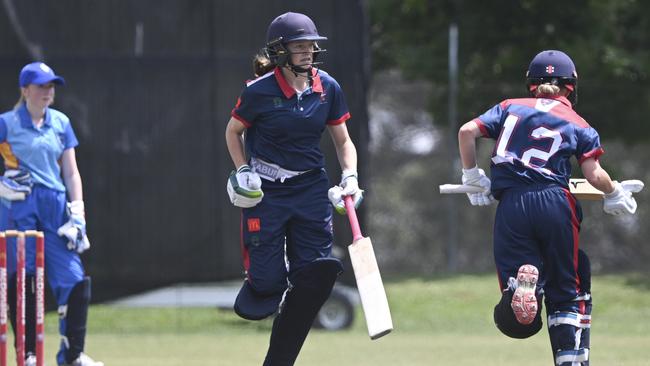
<instances>
[{"instance_id":1,"label":"navy helmet with face grille on the front-facing centre batter","mask_svg":"<svg viewBox=\"0 0 650 366\"><path fill-rule=\"evenodd\" d=\"M291 65L289 56L291 53L287 50L287 43L293 41L324 41L327 37L318 34L316 25L305 14L300 13L284 13L275 18L266 32L266 47L265 52L269 60L278 66L288 65L294 72L306 72L308 70ZM316 61L316 56L319 52L325 50L314 44L313 61ZM315 62L313 64L316 64Z\"/></svg>"}]
</instances>

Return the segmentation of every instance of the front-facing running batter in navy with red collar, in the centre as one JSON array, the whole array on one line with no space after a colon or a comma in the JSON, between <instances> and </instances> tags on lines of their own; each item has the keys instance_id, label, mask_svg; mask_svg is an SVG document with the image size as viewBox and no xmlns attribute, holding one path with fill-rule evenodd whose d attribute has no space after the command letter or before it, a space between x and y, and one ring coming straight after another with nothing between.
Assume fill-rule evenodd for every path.
<instances>
[{"instance_id":1,"label":"front-facing running batter in navy with red collar, in the centre","mask_svg":"<svg viewBox=\"0 0 650 366\"><path fill-rule=\"evenodd\" d=\"M226 143L237 168L227 182L242 207L246 280L235 311L249 320L278 313L265 366L293 365L342 264L331 255L332 206L358 205L357 153L345 122L350 113L339 84L317 69L323 52L314 22L285 13L268 27L264 53L232 110ZM329 189L321 135L329 131L341 169ZM245 132L245 138L244 138ZM329 199L328 199L329 198Z\"/></svg>"}]
</instances>

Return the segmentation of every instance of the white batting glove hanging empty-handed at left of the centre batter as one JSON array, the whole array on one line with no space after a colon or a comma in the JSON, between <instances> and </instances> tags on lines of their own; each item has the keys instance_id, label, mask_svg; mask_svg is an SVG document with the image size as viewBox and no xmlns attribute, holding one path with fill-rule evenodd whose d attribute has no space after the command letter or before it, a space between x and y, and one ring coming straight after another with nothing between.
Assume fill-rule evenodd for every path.
<instances>
[{"instance_id":1,"label":"white batting glove hanging empty-handed at left of the centre batter","mask_svg":"<svg viewBox=\"0 0 650 366\"><path fill-rule=\"evenodd\" d=\"M246 164L230 173L226 190L230 202L237 207L254 207L264 198L262 179Z\"/></svg>"}]
</instances>

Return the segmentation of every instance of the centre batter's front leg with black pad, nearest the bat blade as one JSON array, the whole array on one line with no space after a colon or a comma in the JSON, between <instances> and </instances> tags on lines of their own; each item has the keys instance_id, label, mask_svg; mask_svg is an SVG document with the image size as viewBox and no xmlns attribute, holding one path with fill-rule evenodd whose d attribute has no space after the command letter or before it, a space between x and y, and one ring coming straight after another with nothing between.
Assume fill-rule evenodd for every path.
<instances>
[{"instance_id":1,"label":"centre batter's front leg with black pad, nearest the bat blade","mask_svg":"<svg viewBox=\"0 0 650 366\"><path fill-rule=\"evenodd\" d=\"M293 365L343 267L331 257L332 208L325 173L293 184L294 216L287 232L290 288L273 322L265 366Z\"/></svg>"}]
</instances>

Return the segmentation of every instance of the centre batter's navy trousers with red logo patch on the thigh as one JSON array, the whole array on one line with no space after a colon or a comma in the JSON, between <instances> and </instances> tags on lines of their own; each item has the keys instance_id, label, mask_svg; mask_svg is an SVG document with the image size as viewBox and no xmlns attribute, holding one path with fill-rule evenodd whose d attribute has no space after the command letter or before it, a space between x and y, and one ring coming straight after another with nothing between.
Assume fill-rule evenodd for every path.
<instances>
[{"instance_id":1,"label":"centre batter's navy trousers with red logo patch on the thigh","mask_svg":"<svg viewBox=\"0 0 650 366\"><path fill-rule=\"evenodd\" d=\"M284 291L290 273L319 258L331 257L329 186L323 169L284 182L262 180L264 199L242 210L244 268L255 290Z\"/></svg>"}]
</instances>

